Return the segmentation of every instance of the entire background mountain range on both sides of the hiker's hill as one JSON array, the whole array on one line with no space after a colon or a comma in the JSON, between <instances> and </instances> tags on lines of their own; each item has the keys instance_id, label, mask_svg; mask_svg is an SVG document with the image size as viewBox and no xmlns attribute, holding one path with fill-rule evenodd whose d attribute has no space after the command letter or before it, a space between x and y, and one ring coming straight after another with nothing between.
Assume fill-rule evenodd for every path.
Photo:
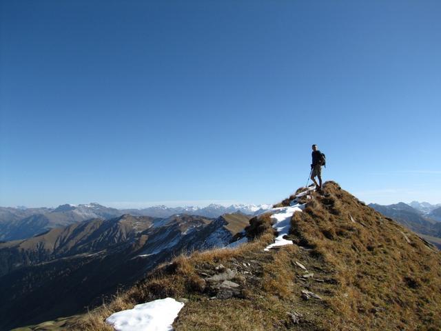
<instances>
[{"instance_id":1,"label":"entire background mountain range on both sides of the hiker's hill","mask_svg":"<svg viewBox=\"0 0 441 331\"><path fill-rule=\"evenodd\" d=\"M369 206L441 248L437 205ZM253 214L270 207L118 210L89 203L0 208L0 230L5 231L0 234L20 237L0 243L0 330L99 305L178 254L225 247L243 237Z\"/></svg>"}]
</instances>

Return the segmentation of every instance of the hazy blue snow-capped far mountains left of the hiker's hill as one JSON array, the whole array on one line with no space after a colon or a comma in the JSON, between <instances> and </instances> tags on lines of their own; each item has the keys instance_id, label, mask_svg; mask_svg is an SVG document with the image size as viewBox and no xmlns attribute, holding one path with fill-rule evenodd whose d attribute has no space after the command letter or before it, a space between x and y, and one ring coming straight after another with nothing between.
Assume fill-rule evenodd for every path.
<instances>
[{"instance_id":1,"label":"hazy blue snow-capped far mountains left of the hiker's hill","mask_svg":"<svg viewBox=\"0 0 441 331\"><path fill-rule=\"evenodd\" d=\"M191 206L170 208L165 205L156 205L143 209L116 209L105 207L99 203L64 204L57 208L0 207L0 241L30 238L52 228L61 228L88 219L112 219L123 214L162 218L175 214L189 214L216 218L234 212L254 214L258 210L270 207L271 205L253 204L236 204L225 207L211 204L204 208Z\"/></svg>"}]
</instances>

